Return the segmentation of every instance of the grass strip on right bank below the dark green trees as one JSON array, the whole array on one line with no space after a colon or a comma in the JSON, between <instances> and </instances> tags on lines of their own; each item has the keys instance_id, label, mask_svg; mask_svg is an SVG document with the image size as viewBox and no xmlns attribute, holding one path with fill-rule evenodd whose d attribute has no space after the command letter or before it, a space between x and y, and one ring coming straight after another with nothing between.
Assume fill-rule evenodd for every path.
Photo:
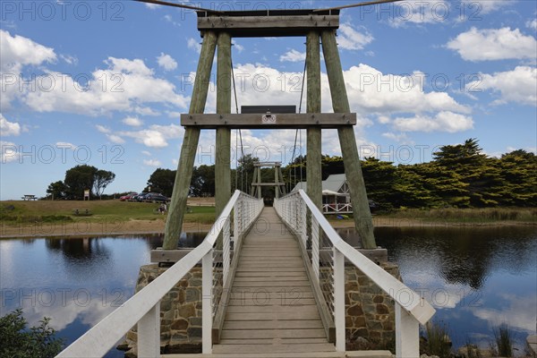
<instances>
[{"instance_id":1,"label":"grass strip on right bank below the dark green trees","mask_svg":"<svg viewBox=\"0 0 537 358\"><path fill-rule=\"evenodd\" d=\"M537 223L537 208L399 209L385 217L471 224L499 221Z\"/></svg>"}]
</instances>

